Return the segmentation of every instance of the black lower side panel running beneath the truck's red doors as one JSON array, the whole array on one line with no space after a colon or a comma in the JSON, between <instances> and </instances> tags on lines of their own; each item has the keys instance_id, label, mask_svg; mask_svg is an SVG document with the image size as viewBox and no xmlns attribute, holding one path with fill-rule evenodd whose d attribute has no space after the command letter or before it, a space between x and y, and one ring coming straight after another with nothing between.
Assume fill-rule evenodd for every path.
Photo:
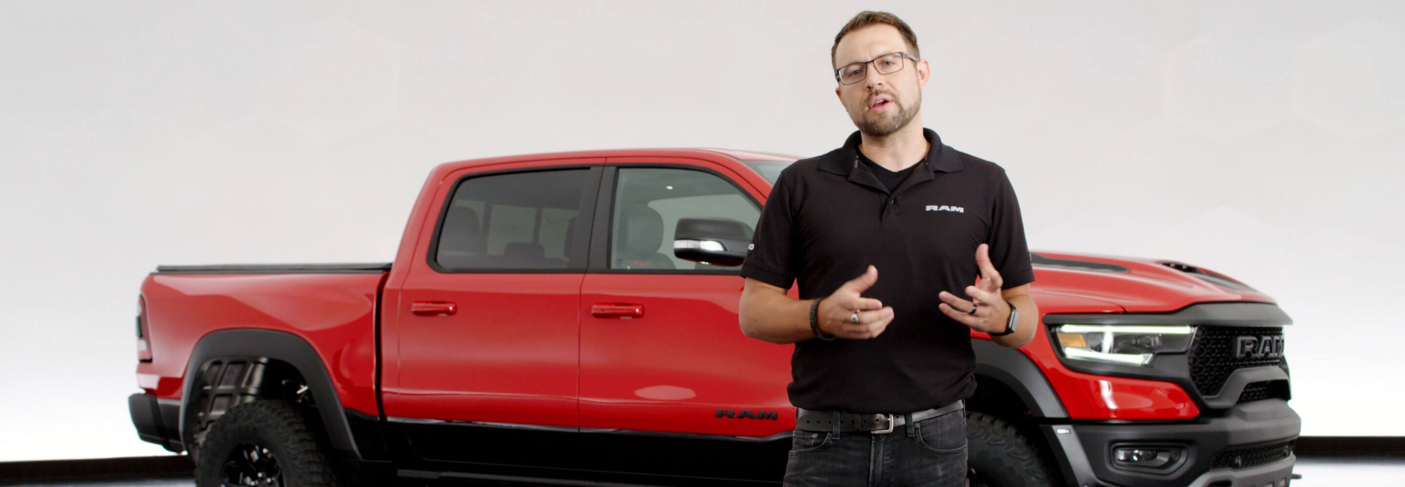
<instances>
[{"instance_id":1,"label":"black lower side panel running beneath the truck's red doors","mask_svg":"<svg viewBox=\"0 0 1405 487\"><path fill-rule=\"evenodd\" d=\"M736 436L400 417L388 417L385 428L402 476L416 470L558 483L774 486L791 448L790 429Z\"/></svg>"}]
</instances>

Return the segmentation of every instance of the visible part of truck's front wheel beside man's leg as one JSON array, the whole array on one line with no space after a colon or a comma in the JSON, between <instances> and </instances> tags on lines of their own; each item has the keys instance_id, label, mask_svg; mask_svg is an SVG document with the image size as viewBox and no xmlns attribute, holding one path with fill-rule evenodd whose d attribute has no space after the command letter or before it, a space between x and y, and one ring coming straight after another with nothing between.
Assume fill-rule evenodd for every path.
<instances>
[{"instance_id":1,"label":"visible part of truck's front wheel beside man's leg","mask_svg":"<svg viewBox=\"0 0 1405 487\"><path fill-rule=\"evenodd\" d=\"M984 413L967 415L971 487L1051 487L1058 476L1043 449L1014 425Z\"/></svg>"}]
</instances>

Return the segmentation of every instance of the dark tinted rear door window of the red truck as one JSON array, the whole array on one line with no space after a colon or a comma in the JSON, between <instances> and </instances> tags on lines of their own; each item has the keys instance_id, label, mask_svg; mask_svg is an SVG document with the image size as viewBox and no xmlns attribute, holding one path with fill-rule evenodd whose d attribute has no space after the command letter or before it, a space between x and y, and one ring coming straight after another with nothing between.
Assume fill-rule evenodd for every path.
<instances>
[{"instance_id":1,"label":"dark tinted rear door window of the red truck","mask_svg":"<svg viewBox=\"0 0 1405 487\"><path fill-rule=\"evenodd\" d=\"M572 248L572 240L589 232L576 219L593 174L570 168L464 180L436 239L438 269L583 268L584 251Z\"/></svg>"}]
</instances>

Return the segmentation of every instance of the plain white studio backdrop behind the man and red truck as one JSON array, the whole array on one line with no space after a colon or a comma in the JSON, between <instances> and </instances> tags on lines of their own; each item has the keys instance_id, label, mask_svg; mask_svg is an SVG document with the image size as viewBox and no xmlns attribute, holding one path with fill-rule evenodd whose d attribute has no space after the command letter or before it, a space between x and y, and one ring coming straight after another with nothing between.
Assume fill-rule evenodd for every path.
<instances>
[{"instance_id":1,"label":"plain white studio backdrop behind the man and red truck","mask_svg":"<svg viewBox=\"0 0 1405 487\"><path fill-rule=\"evenodd\" d=\"M388 261L434 164L828 152L867 6L0 1L0 460L136 438L157 264ZM926 126L1003 166L1034 250L1176 258L1279 299L1307 435L1405 435L1399 1L889 1Z\"/></svg>"}]
</instances>

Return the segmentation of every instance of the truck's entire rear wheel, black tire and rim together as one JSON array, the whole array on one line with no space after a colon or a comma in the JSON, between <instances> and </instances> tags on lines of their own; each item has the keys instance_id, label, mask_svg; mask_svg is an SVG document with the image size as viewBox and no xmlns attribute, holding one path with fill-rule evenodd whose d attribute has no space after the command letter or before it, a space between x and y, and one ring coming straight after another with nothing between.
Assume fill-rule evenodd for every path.
<instances>
[{"instance_id":1,"label":"truck's entire rear wheel, black tire and rim together","mask_svg":"<svg viewBox=\"0 0 1405 487\"><path fill-rule=\"evenodd\" d=\"M239 404L209 425L195 462L198 487L333 487L327 449L287 401Z\"/></svg>"}]
</instances>

